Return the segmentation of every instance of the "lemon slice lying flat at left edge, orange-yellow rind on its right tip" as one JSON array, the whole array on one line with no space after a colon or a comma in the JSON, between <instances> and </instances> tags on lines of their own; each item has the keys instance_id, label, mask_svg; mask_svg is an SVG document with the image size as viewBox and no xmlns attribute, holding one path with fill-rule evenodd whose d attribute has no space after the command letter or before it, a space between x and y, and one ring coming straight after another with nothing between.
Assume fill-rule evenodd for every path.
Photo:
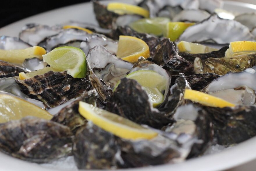
<instances>
[{"instance_id":1,"label":"lemon slice lying flat at left edge, orange-yellow rind on its right tip","mask_svg":"<svg viewBox=\"0 0 256 171\"><path fill-rule=\"evenodd\" d=\"M43 54L46 54L46 50L40 46L33 46L26 49L0 50L0 60L22 64L27 58L37 57L42 59Z\"/></svg>"}]
</instances>

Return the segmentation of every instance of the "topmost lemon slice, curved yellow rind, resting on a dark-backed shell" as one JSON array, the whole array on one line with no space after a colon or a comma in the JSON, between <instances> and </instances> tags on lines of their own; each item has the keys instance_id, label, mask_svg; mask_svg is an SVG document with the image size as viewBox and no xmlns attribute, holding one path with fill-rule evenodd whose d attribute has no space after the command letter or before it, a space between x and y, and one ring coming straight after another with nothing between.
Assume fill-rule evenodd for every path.
<instances>
[{"instance_id":1,"label":"topmost lemon slice, curved yellow rind, resting on a dark-backed shell","mask_svg":"<svg viewBox=\"0 0 256 171\"><path fill-rule=\"evenodd\" d=\"M109 3L107 5L107 10L115 12L117 14L137 14L145 18L149 17L149 11L141 8L139 6L130 5L126 3Z\"/></svg>"}]
</instances>

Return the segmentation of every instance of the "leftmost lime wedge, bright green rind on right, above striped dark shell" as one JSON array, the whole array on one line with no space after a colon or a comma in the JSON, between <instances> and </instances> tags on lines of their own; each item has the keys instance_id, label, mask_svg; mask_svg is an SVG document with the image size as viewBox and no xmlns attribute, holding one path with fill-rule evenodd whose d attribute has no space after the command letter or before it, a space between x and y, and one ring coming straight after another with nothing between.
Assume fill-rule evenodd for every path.
<instances>
[{"instance_id":1,"label":"leftmost lime wedge, bright green rind on right, above striped dark shell","mask_svg":"<svg viewBox=\"0 0 256 171\"><path fill-rule=\"evenodd\" d=\"M43 59L51 67L61 71L67 71L74 78L86 76L87 64L84 52L75 47L64 46L55 48L43 55Z\"/></svg>"}]
</instances>

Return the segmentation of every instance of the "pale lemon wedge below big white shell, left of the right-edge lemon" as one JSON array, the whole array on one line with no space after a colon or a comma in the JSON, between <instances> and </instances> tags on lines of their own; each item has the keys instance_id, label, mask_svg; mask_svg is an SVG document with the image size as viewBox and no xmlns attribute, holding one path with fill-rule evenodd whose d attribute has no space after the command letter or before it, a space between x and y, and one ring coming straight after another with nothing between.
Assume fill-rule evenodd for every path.
<instances>
[{"instance_id":1,"label":"pale lemon wedge below big white shell, left of the right-edge lemon","mask_svg":"<svg viewBox=\"0 0 256 171\"><path fill-rule=\"evenodd\" d=\"M209 46L204 46L198 43L191 43L186 41L180 41L177 44L179 52L187 52L191 54L198 54L198 53L208 53L212 51L217 51L216 48L211 48Z\"/></svg>"}]
</instances>

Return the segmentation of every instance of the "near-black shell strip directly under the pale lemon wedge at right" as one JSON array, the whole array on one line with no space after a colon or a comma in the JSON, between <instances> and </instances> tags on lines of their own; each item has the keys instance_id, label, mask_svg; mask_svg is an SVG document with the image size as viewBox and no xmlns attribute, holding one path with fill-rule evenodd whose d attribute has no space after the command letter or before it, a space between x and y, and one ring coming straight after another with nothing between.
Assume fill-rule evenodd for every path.
<instances>
[{"instance_id":1,"label":"near-black shell strip directly under the pale lemon wedge at right","mask_svg":"<svg viewBox=\"0 0 256 171\"><path fill-rule=\"evenodd\" d=\"M207 58L223 58L225 57L225 52L229 47L224 46L220 50L209 52L209 53L199 53L199 54L191 54L186 52L179 52L179 55L182 56L184 59L188 60L191 63L194 63L195 58L200 58L205 60Z\"/></svg>"}]
</instances>

